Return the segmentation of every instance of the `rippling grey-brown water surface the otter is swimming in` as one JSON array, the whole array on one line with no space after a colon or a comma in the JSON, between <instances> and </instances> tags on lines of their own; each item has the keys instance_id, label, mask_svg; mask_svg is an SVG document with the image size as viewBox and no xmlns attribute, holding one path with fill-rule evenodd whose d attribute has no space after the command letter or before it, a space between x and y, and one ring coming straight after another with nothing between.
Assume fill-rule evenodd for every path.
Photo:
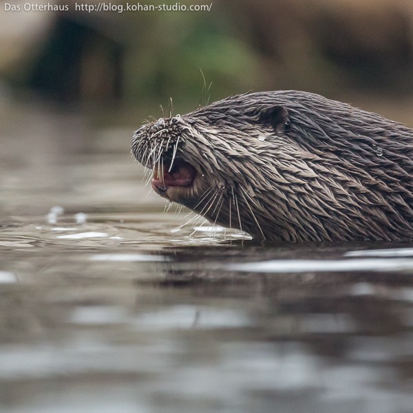
<instances>
[{"instance_id":1,"label":"rippling grey-brown water surface the otter is swimming in","mask_svg":"<svg viewBox=\"0 0 413 413\"><path fill-rule=\"evenodd\" d=\"M0 411L413 412L413 244L179 228L133 127L10 107Z\"/></svg>"}]
</instances>

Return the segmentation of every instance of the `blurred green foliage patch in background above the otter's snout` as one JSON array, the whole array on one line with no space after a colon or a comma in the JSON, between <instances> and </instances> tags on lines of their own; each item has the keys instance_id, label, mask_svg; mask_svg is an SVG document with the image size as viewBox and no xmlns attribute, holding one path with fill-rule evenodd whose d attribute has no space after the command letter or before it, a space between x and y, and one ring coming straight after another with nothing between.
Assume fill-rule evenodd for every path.
<instances>
[{"instance_id":1,"label":"blurred green foliage patch in background above the otter's snout","mask_svg":"<svg viewBox=\"0 0 413 413\"><path fill-rule=\"evenodd\" d=\"M255 52L216 14L146 14L136 27L125 74L129 101L165 103L171 96L194 107L206 103L211 81L213 99L256 86Z\"/></svg>"}]
</instances>

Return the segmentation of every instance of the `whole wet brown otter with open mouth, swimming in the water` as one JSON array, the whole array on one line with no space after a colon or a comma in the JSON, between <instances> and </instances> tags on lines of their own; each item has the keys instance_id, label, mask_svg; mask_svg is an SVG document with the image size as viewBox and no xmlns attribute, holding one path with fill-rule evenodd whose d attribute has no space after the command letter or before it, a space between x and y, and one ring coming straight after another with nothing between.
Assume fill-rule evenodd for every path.
<instances>
[{"instance_id":1,"label":"whole wet brown otter with open mouth, swimming in the water","mask_svg":"<svg viewBox=\"0 0 413 413\"><path fill-rule=\"evenodd\" d=\"M276 242L413 239L413 130L308 92L251 92L160 118L131 151L152 187Z\"/></svg>"}]
</instances>

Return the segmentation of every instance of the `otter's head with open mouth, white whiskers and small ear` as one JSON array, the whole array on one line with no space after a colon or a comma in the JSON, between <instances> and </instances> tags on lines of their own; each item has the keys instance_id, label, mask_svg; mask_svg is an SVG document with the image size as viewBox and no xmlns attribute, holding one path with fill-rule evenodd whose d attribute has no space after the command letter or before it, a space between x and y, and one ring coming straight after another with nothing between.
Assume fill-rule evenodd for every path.
<instances>
[{"instance_id":1,"label":"otter's head with open mouth, white whiskers and small ear","mask_svg":"<svg viewBox=\"0 0 413 413\"><path fill-rule=\"evenodd\" d=\"M266 151L287 124L284 107L235 96L143 125L131 149L153 170L152 188L162 197L265 238L259 222L266 208L260 194L271 189Z\"/></svg>"}]
</instances>

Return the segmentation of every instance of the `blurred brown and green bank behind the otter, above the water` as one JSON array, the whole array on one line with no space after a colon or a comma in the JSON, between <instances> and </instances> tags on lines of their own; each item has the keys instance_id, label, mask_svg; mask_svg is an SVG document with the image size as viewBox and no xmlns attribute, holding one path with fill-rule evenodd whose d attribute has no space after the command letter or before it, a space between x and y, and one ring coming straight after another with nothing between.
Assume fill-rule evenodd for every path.
<instances>
[{"instance_id":1,"label":"blurred brown and green bank behind the otter, above the water","mask_svg":"<svg viewBox=\"0 0 413 413\"><path fill-rule=\"evenodd\" d=\"M3 91L63 107L100 107L109 122L138 125L140 114L158 116L170 97L176 110L187 111L209 95L215 100L249 90L370 99L379 109L396 105L394 112L412 100L409 0L166 2L210 8L187 12L132 12L123 1L100 12L79 10L98 7L93 0L36 4L42 3L68 10L25 11L19 0L1 5ZM12 6L21 11L8 10ZM404 111L394 116L409 120Z\"/></svg>"}]
</instances>

